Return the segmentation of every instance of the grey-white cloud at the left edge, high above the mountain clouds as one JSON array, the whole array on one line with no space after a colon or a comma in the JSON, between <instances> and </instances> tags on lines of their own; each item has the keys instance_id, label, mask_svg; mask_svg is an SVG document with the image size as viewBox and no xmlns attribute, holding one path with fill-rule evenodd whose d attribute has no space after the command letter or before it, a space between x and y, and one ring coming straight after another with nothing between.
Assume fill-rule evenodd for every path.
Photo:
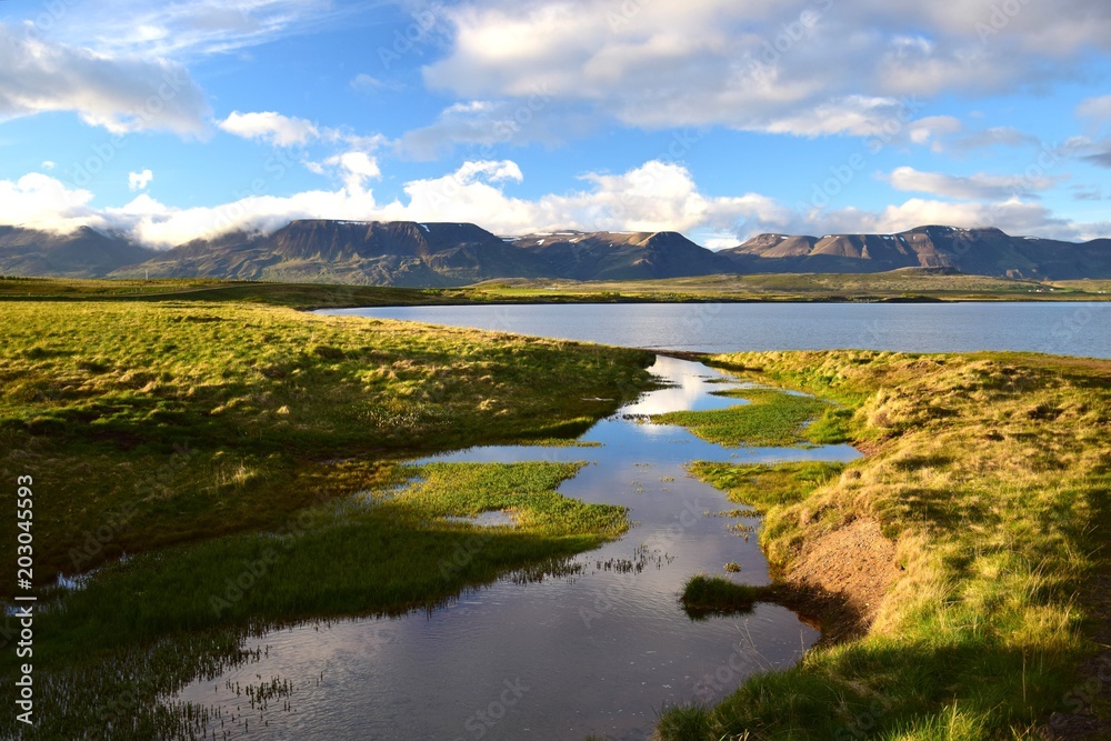
<instances>
[{"instance_id":1,"label":"grey-white cloud at the left edge, high above the mountain clouds","mask_svg":"<svg viewBox=\"0 0 1111 741\"><path fill-rule=\"evenodd\" d=\"M73 111L113 133L199 136L209 113L182 66L39 40L0 23L0 120Z\"/></svg>"}]
</instances>

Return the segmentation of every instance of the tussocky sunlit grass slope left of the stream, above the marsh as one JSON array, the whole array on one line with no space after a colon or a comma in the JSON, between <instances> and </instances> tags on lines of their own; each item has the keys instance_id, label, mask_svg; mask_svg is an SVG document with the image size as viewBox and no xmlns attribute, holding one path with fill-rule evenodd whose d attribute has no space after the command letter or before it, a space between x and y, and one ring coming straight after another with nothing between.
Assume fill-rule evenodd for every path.
<instances>
[{"instance_id":1,"label":"tussocky sunlit grass slope left of the stream, above the marsh","mask_svg":"<svg viewBox=\"0 0 1111 741\"><path fill-rule=\"evenodd\" d=\"M276 527L343 493L339 460L573 438L651 358L237 303L9 302L0 321L0 470L36 478L40 580Z\"/></svg>"}]
</instances>

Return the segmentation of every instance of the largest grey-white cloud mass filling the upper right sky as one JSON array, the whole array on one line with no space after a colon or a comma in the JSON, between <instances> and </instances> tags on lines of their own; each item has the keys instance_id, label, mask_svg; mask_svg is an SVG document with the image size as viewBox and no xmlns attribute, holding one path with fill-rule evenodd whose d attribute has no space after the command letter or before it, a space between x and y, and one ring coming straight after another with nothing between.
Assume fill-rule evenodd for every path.
<instances>
[{"instance_id":1,"label":"largest grey-white cloud mass filling the upper right sky","mask_svg":"<svg viewBox=\"0 0 1111 741\"><path fill-rule=\"evenodd\" d=\"M994 8L467 0L443 9L453 46L423 74L463 100L520 101L542 86L557 101L549 114L589 106L638 127L867 134L902 98L1068 79L1087 50L1111 49L1109 3L1020 3L1001 18Z\"/></svg>"}]
</instances>

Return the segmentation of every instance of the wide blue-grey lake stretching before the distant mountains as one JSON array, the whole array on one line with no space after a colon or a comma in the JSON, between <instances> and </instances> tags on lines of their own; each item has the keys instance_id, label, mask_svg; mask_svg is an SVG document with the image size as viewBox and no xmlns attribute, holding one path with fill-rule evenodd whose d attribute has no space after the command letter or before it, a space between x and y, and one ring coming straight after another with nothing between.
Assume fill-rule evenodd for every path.
<instances>
[{"instance_id":1,"label":"wide blue-grey lake stretching before the distant mountains","mask_svg":"<svg viewBox=\"0 0 1111 741\"><path fill-rule=\"evenodd\" d=\"M1111 358L1111 302L622 303L342 309L320 313L409 319L697 352L1031 350Z\"/></svg>"}]
</instances>

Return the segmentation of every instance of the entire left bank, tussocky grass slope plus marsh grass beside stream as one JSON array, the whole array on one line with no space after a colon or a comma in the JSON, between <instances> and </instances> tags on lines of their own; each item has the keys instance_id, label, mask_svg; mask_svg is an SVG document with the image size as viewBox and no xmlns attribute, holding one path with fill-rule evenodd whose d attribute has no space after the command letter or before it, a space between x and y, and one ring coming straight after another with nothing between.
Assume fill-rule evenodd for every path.
<instances>
[{"instance_id":1,"label":"entire left bank, tussocky grass slope plus marsh grass beside stream","mask_svg":"<svg viewBox=\"0 0 1111 741\"><path fill-rule=\"evenodd\" d=\"M625 527L556 493L574 464L402 461L573 437L649 385L649 353L147 298L0 303L0 471L33 478L44 600L43 723L22 738L188 734L196 709L159 699L242 660L246 634L428 609ZM444 519L488 510L516 525ZM49 588L97 568L81 590ZM6 642L3 674L17 663Z\"/></svg>"}]
</instances>

